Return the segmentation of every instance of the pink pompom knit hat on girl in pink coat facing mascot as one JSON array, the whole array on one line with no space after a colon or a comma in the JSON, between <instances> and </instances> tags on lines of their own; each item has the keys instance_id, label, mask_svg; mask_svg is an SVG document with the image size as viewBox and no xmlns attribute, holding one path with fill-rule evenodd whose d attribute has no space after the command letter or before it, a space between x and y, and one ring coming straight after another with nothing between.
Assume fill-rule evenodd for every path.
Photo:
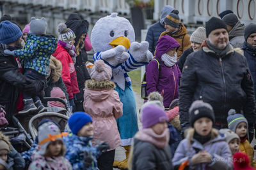
<instances>
[{"instance_id":1,"label":"pink pompom knit hat on girl in pink coat facing mascot","mask_svg":"<svg viewBox=\"0 0 256 170\"><path fill-rule=\"evenodd\" d=\"M112 69L103 60L97 60L95 66L92 67L91 78L92 80L110 80L112 76Z\"/></svg>"}]
</instances>

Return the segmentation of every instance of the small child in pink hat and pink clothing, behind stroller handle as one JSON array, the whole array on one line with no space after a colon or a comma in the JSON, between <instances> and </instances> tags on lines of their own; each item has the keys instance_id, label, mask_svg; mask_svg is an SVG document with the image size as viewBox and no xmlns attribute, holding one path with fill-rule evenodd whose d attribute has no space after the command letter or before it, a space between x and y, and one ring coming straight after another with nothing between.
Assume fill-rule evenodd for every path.
<instances>
[{"instance_id":1,"label":"small child in pink hat and pink clothing, behind stroller handle","mask_svg":"<svg viewBox=\"0 0 256 170\"><path fill-rule=\"evenodd\" d=\"M60 87L53 87L51 90L51 97L65 97L65 93L60 89ZM65 102L67 102L67 99L64 99ZM65 106L63 103L56 103L56 101L49 101L47 103L48 107L58 107L58 108L64 108Z\"/></svg>"}]
</instances>

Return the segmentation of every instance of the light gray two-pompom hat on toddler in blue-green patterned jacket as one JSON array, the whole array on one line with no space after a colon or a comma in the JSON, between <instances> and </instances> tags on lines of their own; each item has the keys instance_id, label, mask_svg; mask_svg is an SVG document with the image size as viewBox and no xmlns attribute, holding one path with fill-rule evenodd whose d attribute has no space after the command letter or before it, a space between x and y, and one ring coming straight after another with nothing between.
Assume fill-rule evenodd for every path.
<instances>
[{"instance_id":1,"label":"light gray two-pompom hat on toddler in blue-green patterned jacket","mask_svg":"<svg viewBox=\"0 0 256 170\"><path fill-rule=\"evenodd\" d=\"M45 18L36 19L35 17L31 17L31 21L29 23L29 34L42 35L46 34L47 23Z\"/></svg>"}]
</instances>

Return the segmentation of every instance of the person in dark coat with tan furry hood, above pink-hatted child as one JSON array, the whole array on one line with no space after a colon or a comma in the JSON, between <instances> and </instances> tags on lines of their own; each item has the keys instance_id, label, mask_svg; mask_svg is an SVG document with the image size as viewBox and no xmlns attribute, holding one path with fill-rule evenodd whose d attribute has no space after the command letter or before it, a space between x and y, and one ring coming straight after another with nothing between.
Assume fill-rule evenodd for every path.
<instances>
[{"instance_id":1,"label":"person in dark coat with tan furry hood, above pink-hatted child","mask_svg":"<svg viewBox=\"0 0 256 170\"><path fill-rule=\"evenodd\" d=\"M65 98L68 100L68 92L67 87L63 83L61 78L62 65L60 60L55 59L55 57L51 57L49 64L49 76L47 77L47 85L44 89L45 97L51 97L51 90L53 87L60 87L60 89L65 93ZM44 103L47 106L47 103Z\"/></svg>"}]
</instances>

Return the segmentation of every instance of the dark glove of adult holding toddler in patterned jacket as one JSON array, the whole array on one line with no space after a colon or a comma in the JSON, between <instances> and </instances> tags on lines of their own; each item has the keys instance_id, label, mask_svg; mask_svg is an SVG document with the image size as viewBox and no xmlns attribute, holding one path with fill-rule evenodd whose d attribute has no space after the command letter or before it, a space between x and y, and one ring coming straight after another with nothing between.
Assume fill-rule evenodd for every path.
<instances>
[{"instance_id":1,"label":"dark glove of adult holding toddler in patterned jacket","mask_svg":"<svg viewBox=\"0 0 256 170\"><path fill-rule=\"evenodd\" d=\"M44 97L44 89L47 87L46 80L31 80L32 83L26 85L23 92L29 96L38 96L40 99Z\"/></svg>"}]
</instances>

